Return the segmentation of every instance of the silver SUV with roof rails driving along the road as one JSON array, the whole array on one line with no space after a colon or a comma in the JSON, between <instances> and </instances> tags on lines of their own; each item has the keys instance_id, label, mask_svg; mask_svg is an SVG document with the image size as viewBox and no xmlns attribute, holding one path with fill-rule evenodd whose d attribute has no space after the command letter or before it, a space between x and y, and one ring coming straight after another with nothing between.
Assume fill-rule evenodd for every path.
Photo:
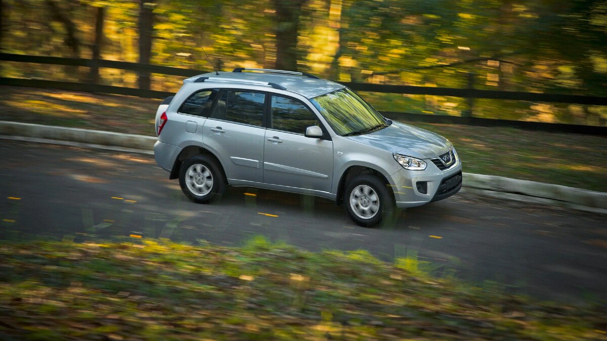
<instances>
[{"instance_id":1,"label":"silver SUV with roof rails driving along the road","mask_svg":"<svg viewBox=\"0 0 607 341\"><path fill-rule=\"evenodd\" d=\"M388 120L342 84L301 72L234 69L183 81L156 113L154 155L185 195L226 185L330 198L361 226L461 188L436 133Z\"/></svg>"}]
</instances>

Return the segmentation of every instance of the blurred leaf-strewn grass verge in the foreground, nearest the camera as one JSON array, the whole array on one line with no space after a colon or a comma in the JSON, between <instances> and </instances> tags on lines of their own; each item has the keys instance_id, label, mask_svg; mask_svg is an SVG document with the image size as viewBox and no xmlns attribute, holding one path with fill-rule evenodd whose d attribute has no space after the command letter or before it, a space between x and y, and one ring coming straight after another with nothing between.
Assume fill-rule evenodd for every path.
<instances>
[{"instance_id":1,"label":"blurred leaf-strewn grass verge in the foreground, nearest the camera","mask_svg":"<svg viewBox=\"0 0 607 341\"><path fill-rule=\"evenodd\" d=\"M0 336L17 339L601 339L600 306L506 294L259 237L0 244Z\"/></svg>"}]
</instances>

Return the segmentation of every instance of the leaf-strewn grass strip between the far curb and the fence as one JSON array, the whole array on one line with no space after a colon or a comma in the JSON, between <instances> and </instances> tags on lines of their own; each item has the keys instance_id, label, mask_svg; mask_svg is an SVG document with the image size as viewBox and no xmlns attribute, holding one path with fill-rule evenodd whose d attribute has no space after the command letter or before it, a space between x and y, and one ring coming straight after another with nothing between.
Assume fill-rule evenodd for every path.
<instances>
[{"instance_id":1,"label":"leaf-strewn grass strip between the far curb and the fence","mask_svg":"<svg viewBox=\"0 0 607 341\"><path fill-rule=\"evenodd\" d=\"M154 135L160 100L0 86L0 119ZM607 192L607 138L511 127L412 123L449 138L464 172Z\"/></svg>"}]
</instances>

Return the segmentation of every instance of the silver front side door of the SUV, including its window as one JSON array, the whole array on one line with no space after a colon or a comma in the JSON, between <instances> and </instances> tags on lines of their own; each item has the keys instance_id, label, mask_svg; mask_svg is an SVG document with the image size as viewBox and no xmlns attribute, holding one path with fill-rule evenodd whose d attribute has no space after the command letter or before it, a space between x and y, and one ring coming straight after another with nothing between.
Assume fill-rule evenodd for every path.
<instances>
[{"instance_id":1,"label":"silver front side door of the SUV, including its window","mask_svg":"<svg viewBox=\"0 0 607 341\"><path fill-rule=\"evenodd\" d=\"M309 126L320 125L302 101L270 95L265 133L265 183L331 192L333 141L305 137Z\"/></svg>"}]
</instances>

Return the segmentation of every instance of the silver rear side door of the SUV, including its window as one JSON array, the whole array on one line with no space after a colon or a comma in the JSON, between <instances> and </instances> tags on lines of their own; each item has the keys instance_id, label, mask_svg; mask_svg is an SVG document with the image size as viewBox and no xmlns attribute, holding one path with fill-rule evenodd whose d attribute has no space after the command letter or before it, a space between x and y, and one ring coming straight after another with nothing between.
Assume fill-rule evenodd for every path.
<instances>
[{"instance_id":1,"label":"silver rear side door of the SUV, including its window","mask_svg":"<svg viewBox=\"0 0 607 341\"><path fill-rule=\"evenodd\" d=\"M203 143L213 150L231 180L263 182L263 113L266 93L224 89L203 128Z\"/></svg>"}]
</instances>

